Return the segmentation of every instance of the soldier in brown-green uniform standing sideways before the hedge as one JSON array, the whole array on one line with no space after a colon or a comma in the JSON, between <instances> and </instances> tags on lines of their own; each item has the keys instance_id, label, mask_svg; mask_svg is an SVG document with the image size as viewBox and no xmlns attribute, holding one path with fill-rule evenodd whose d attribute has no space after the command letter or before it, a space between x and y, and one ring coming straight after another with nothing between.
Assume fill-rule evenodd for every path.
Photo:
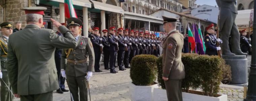
<instances>
[{"instance_id":1,"label":"soldier in brown-green uniform standing sideways before the hedge","mask_svg":"<svg viewBox=\"0 0 256 101\"><path fill-rule=\"evenodd\" d=\"M163 41L163 80L166 87L168 101L182 101L182 79L185 70L181 61L183 35L176 30L175 18L163 16L164 30L168 32Z\"/></svg>"}]
</instances>

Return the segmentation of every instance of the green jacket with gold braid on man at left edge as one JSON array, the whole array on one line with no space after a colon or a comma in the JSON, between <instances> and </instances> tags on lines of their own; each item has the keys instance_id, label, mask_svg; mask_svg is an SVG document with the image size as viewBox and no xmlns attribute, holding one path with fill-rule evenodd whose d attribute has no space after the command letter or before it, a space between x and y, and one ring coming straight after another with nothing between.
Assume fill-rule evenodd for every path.
<instances>
[{"instance_id":1,"label":"green jacket with gold braid on man at left edge","mask_svg":"<svg viewBox=\"0 0 256 101\"><path fill-rule=\"evenodd\" d=\"M0 70L1 71L7 71L6 69L6 60L7 60L7 43L8 43L8 39L6 37L4 37L3 35L0 35L0 60L1 60L1 67Z\"/></svg>"}]
</instances>

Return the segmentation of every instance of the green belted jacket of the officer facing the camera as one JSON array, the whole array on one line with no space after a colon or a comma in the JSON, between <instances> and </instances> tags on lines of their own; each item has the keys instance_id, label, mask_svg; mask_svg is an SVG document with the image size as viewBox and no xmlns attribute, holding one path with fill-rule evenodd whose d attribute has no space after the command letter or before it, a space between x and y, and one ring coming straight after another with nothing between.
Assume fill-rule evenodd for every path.
<instances>
[{"instance_id":1,"label":"green belted jacket of the officer facing the camera","mask_svg":"<svg viewBox=\"0 0 256 101\"><path fill-rule=\"evenodd\" d=\"M78 63L78 61L87 60L87 55L89 56L89 65L87 62ZM67 59L67 62L65 62L65 59ZM61 69L64 69L68 76L83 76L86 75L88 71L94 71L94 59L91 40L79 35L75 48L62 50ZM69 60L75 63L68 62Z\"/></svg>"}]
</instances>

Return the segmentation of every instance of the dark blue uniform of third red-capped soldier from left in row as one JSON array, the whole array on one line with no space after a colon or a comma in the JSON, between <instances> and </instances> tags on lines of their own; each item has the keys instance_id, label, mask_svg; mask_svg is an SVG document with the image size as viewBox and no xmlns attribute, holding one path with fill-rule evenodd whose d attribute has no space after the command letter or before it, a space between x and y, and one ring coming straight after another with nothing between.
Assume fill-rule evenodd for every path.
<instances>
[{"instance_id":1,"label":"dark blue uniform of third red-capped soldier from left in row","mask_svg":"<svg viewBox=\"0 0 256 101\"><path fill-rule=\"evenodd\" d=\"M116 61L116 54L117 54L117 44L115 43L116 42L116 38L115 36L112 34L112 33L109 33L109 35L107 36L107 40L109 42L109 47L108 47L108 51L109 51L109 56L110 56L110 59L109 59L109 69L110 69L110 72L113 72L115 73L115 61Z\"/></svg>"}]
</instances>

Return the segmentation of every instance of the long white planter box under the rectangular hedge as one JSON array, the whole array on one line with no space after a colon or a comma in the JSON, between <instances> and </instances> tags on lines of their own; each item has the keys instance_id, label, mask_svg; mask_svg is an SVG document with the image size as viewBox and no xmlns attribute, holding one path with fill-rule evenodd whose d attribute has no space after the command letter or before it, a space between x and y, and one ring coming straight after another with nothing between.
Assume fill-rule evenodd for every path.
<instances>
[{"instance_id":1,"label":"long white planter box under the rectangular hedge","mask_svg":"<svg viewBox=\"0 0 256 101\"><path fill-rule=\"evenodd\" d=\"M219 97L209 97L191 93L182 92L183 101L227 101L228 97L225 94L220 94ZM155 88L154 89L154 101L168 101L166 90Z\"/></svg>"}]
</instances>

